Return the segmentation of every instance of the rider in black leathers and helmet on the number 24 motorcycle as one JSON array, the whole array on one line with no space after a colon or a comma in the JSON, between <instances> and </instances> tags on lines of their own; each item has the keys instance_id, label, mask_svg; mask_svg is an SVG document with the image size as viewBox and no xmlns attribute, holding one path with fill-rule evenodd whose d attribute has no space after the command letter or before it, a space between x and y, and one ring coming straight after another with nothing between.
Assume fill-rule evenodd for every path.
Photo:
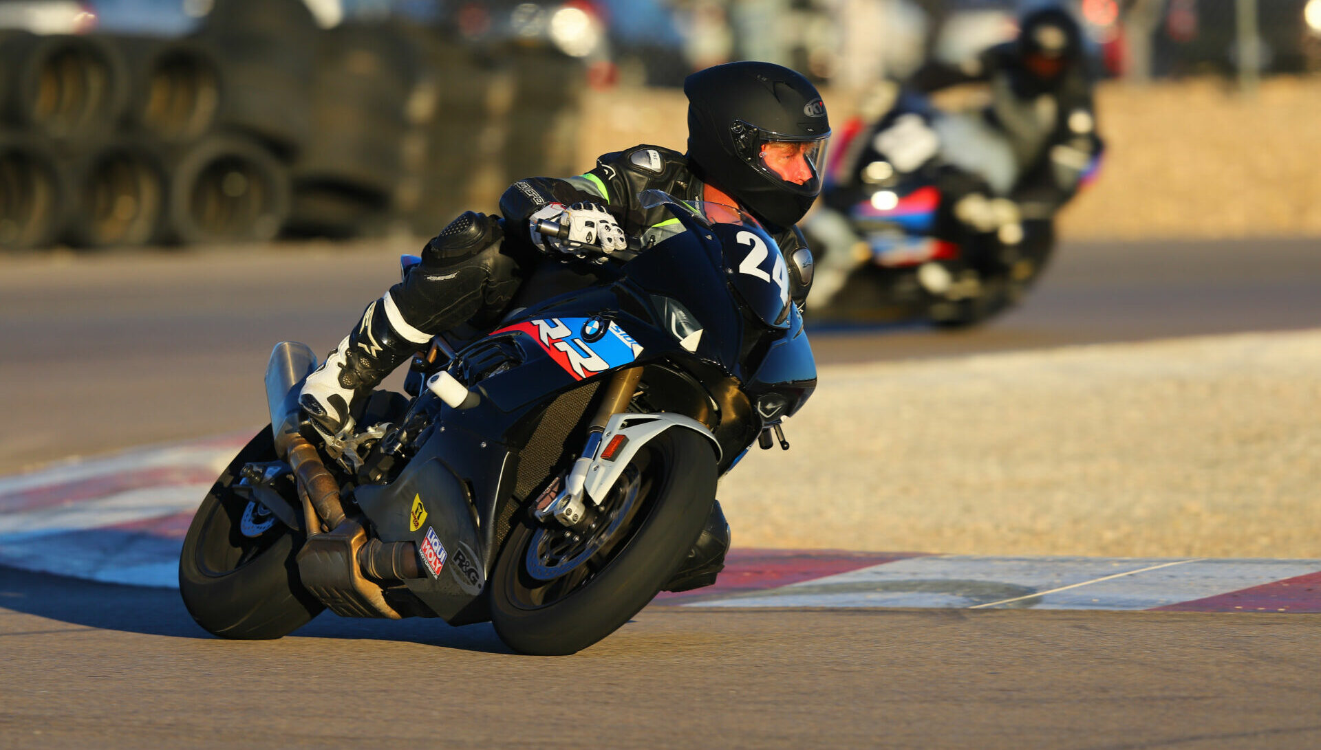
<instances>
[{"instance_id":1,"label":"rider in black leathers and helmet on the number 24 motorcycle","mask_svg":"<svg viewBox=\"0 0 1321 750\"><path fill-rule=\"evenodd\" d=\"M643 144L598 157L584 174L519 180L501 197L503 222L468 211L428 242L421 263L369 304L308 376L300 405L310 423L328 436L351 428L363 396L433 335L460 325L490 330L538 265L592 264L624 250L626 235L663 235L670 215L639 205L647 189L752 214L785 252L790 296L801 305L812 261L795 223L820 191L818 168L831 133L819 92L786 67L731 62L691 74L684 94L687 153ZM568 239L543 236L540 221L567 227ZM728 539L716 504L679 578L709 573L713 582ZM676 590L675 581L667 588Z\"/></svg>"}]
</instances>

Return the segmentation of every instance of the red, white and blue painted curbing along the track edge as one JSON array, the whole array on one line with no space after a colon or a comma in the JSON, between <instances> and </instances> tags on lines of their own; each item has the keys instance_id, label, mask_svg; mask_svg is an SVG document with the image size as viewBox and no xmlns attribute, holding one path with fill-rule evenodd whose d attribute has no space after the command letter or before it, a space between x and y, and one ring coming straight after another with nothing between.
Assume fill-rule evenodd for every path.
<instances>
[{"instance_id":1,"label":"red, white and blue painted curbing along the track edge","mask_svg":"<svg viewBox=\"0 0 1321 750\"><path fill-rule=\"evenodd\" d=\"M178 552L247 436L143 449L0 478L0 564L177 586ZM700 607L958 607L1321 613L1321 560L983 557L734 549Z\"/></svg>"}]
</instances>

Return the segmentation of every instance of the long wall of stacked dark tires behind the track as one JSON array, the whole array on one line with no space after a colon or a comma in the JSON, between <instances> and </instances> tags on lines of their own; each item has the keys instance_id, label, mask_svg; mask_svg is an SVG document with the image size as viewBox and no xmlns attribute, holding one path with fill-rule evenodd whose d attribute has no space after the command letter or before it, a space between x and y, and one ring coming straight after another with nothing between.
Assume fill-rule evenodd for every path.
<instances>
[{"instance_id":1,"label":"long wall of stacked dark tires behind the track","mask_svg":"<svg viewBox=\"0 0 1321 750\"><path fill-rule=\"evenodd\" d=\"M429 235L572 174L583 66L303 0L217 0L197 32L0 32L0 248Z\"/></svg>"}]
</instances>

